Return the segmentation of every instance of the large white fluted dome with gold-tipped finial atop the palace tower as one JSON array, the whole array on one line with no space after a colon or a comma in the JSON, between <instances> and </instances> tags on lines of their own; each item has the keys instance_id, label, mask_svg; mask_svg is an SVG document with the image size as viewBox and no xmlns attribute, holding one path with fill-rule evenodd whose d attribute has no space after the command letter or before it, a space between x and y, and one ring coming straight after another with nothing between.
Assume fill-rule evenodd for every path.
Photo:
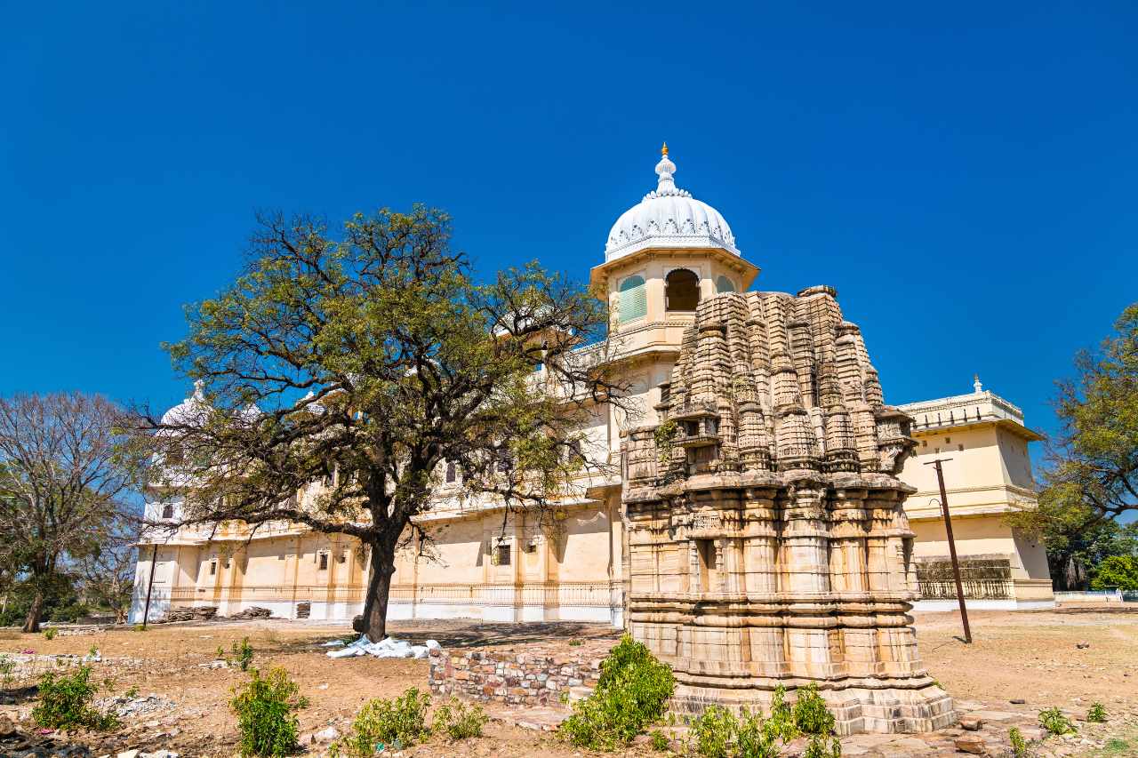
<instances>
[{"instance_id":1,"label":"large white fluted dome with gold-tipped finial atop the palace tower","mask_svg":"<svg viewBox=\"0 0 1138 758\"><path fill-rule=\"evenodd\" d=\"M649 247L714 247L739 255L727 221L710 205L676 187L671 179L676 164L668 159L667 145L662 153L663 157L655 165L659 184L612 224L604 259L612 261Z\"/></svg>"}]
</instances>

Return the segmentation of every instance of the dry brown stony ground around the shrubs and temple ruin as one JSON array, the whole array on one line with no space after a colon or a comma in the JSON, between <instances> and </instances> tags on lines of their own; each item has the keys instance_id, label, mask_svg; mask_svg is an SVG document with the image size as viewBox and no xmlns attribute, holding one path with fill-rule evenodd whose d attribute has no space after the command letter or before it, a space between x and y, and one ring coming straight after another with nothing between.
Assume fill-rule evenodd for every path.
<instances>
[{"instance_id":1,"label":"dry brown stony ground around the shrubs and temple ruin","mask_svg":"<svg viewBox=\"0 0 1138 758\"><path fill-rule=\"evenodd\" d=\"M616 640L611 629L579 624L497 625L470 621L395 624L395 634L445 648L558 644L570 640ZM1003 755L1008 731L1017 726L1033 740L1034 755L1138 756L1138 612L1063 609L1037 612L976 612L972 645L965 645L954 613L917 617L921 653L930 673L956 698L962 725L927 735L857 735L843 740L847 756ZM351 634L347 625L278 620L213 621L151 627L148 632L74 629L55 640L0 631L0 653L13 661L0 685L0 755L117 756L132 750L170 756L232 756L236 720L228 708L234 686L248 677L236 666L215 662L217 648L228 653L248 637L254 666L283 666L311 700L300 728L305 751L327 752L333 734L346 731L369 698L389 698L411 686L426 689L427 661L330 659L321 644ZM73 632L73 633L72 633ZM97 654L93 651L98 651ZM110 734L42 733L28 719L34 683L49 668L93 668L94 681L112 691L101 707L115 707L123 726ZM1102 702L1106 724L1087 724L1086 711ZM1079 732L1044 739L1037 714L1049 707L1066 711ZM440 739L415 745L407 758L504 756L568 758L586 755L560 743L547 731L559 720L556 708L488 708L493 720L480 739L450 744ZM787 747L784 755L801 751ZM646 744L626 756L643 756Z\"/></svg>"}]
</instances>

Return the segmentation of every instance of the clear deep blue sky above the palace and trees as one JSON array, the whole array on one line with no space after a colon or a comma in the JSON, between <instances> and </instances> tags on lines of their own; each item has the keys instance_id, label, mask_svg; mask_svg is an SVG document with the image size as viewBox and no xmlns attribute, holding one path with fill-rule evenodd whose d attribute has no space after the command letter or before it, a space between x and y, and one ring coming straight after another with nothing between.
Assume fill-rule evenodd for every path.
<instances>
[{"instance_id":1,"label":"clear deep blue sky above the palace and trees","mask_svg":"<svg viewBox=\"0 0 1138 758\"><path fill-rule=\"evenodd\" d=\"M791 6L794 6L791 8ZM872 6L872 7L871 7ZM0 394L168 405L258 208L448 209L584 279L654 187L838 288L893 403L1053 381L1138 299L1138 7L8 3Z\"/></svg>"}]
</instances>

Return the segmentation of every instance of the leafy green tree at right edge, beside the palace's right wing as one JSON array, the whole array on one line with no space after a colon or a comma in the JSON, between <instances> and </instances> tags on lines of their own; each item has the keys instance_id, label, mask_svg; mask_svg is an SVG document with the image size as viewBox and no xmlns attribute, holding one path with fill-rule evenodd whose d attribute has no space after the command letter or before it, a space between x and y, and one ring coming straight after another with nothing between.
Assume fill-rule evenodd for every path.
<instances>
[{"instance_id":1,"label":"leafy green tree at right edge, beside the palace's right wing","mask_svg":"<svg viewBox=\"0 0 1138 758\"><path fill-rule=\"evenodd\" d=\"M1056 382L1062 428L1048 443L1039 508L1011 521L1044 537L1064 584L1086 586L1090 567L1125 550L1111 546L1124 532L1106 525L1138 511L1138 304L1074 364L1077 376Z\"/></svg>"}]
</instances>

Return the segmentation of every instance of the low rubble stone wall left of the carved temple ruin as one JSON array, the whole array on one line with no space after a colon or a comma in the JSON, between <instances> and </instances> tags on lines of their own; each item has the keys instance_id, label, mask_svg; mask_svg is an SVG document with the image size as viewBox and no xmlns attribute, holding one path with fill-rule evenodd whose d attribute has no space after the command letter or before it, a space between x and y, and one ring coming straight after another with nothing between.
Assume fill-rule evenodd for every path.
<instances>
[{"instance_id":1,"label":"low rubble stone wall left of the carved temple ruin","mask_svg":"<svg viewBox=\"0 0 1138 758\"><path fill-rule=\"evenodd\" d=\"M588 641L569 653L564 643L556 651L543 645L432 650L430 689L483 702L555 706L574 687L596 686L601 660L613 644L611 640Z\"/></svg>"}]
</instances>

